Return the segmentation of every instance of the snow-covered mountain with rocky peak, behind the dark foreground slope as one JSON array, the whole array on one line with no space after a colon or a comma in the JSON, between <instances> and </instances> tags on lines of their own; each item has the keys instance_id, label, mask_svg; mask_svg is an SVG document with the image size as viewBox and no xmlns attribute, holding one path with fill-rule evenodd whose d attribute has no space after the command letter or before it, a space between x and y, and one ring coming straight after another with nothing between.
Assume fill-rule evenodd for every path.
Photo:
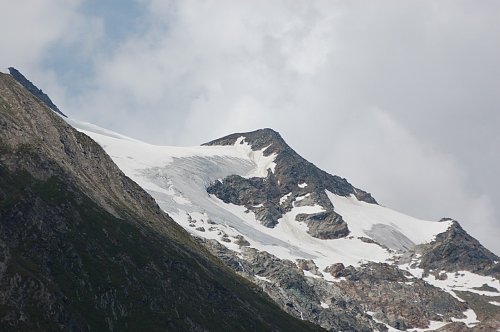
<instances>
[{"instance_id":1,"label":"snow-covered mountain with rocky peak, behind the dark foreground slope","mask_svg":"<svg viewBox=\"0 0 500 332\"><path fill-rule=\"evenodd\" d=\"M297 317L330 330L500 328L497 256L454 220L377 204L271 129L168 147L67 121Z\"/></svg>"}]
</instances>

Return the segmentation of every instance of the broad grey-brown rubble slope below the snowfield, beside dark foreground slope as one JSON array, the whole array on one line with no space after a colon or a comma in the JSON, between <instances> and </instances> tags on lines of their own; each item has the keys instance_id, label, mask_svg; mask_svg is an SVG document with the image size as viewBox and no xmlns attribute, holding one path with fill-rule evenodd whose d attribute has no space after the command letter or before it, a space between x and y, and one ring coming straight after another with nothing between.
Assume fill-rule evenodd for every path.
<instances>
[{"instance_id":1,"label":"broad grey-brown rubble slope below the snowfield, beside dark foreground slope","mask_svg":"<svg viewBox=\"0 0 500 332\"><path fill-rule=\"evenodd\" d=\"M425 328L430 320L464 318L462 313L468 308L466 303L422 279L412 278L394 265L369 263L354 268L333 264L325 272L345 280L331 284L300 273L314 270L315 264L309 260L298 260L295 265L251 248L238 257L218 243L200 241L243 276L253 279L258 275L272 280L259 285L286 311L331 331L385 331L366 311L375 312L377 320L394 328L408 329ZM328 307L317 305L320 302Z\"/></svg>"}]
</instances>

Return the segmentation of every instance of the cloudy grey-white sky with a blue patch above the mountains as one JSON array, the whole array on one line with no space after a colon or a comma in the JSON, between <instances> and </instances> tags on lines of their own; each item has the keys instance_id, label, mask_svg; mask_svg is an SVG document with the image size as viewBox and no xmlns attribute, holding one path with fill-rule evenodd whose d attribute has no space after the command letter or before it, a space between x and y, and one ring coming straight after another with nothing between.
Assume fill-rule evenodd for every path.
<instances>
[{"instance_id":1,"label":"cloudy grey-white sky with a blue patch above the mountains","mask_svg":"<svg viewBox=\"0 0 500 332\"><path fill-rule=\"evenodd\" d=\"M0 71L162 145L270 127L500 254L500 1L0 0Z\"/></svg>"}]
</instances>

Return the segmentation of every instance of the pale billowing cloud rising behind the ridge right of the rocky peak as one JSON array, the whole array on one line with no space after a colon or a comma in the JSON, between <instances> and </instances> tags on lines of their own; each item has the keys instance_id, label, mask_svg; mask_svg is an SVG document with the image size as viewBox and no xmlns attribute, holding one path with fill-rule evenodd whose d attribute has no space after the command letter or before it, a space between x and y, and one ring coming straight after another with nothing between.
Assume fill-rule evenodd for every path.
<instances>
[{"instance_id":1,"label":"pale billowing cloud rising behind the ridge right of the rocky peak","mask_svg":"<svg viewBox=\"0 0 500 332\"><path fill-rule=\"evenodd\" d=\"M379 204L422 219L457 219L484 245L499 251L500 229L492 198L469 188L474 179L453 155L422 142L380 109L349 119L343 126L324 161L335 165L331 171L373 190Z\"/></svg>"}]
</instances>

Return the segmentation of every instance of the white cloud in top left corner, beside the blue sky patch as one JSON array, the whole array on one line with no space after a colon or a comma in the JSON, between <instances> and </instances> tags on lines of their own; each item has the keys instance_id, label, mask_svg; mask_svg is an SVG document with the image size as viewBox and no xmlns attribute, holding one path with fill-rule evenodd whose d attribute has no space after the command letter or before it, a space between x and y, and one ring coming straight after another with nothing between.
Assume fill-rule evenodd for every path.
<instances>
[{"instance_id":1,"label":"white cloud in top left corner, beside the blue sky patch","mask_svg":"<svg viewBox=\"0 0 500 332\"><path fill-rule=\"evenodd\" d=\"M7 3L8 2L8 3ZM102 21L80 12L83 0L0 0L0 66L16 67L67 106L67 87L53 68L75 68L78 59L92 57L103 37ZM61 60L64 58L64 60ZM68 60L71 59L71 60ZM59 61L61 60L61 61ZM71 64L69 64L71 62Z\"/></svg>"}]
</instances>

